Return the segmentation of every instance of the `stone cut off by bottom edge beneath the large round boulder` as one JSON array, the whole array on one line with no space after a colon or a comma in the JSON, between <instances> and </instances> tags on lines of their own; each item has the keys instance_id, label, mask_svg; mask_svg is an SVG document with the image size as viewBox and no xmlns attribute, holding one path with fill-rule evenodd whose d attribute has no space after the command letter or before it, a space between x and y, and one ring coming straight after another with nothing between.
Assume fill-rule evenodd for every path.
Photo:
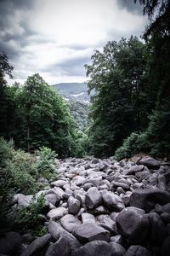
<instances>
[{"instance_id":1,"label":"stone cut off by bottom edge beneath the large round boulder","mask_svg":"<svg viewBox=\"0 0 170 256\"><path fill-rule=\"evenodd\" d=\"M128 248L125 256L151 256L150 252L145 248L139 245L133 245ZM165 256L162 254L162 256Z\"/></svg>"}]
</instances>

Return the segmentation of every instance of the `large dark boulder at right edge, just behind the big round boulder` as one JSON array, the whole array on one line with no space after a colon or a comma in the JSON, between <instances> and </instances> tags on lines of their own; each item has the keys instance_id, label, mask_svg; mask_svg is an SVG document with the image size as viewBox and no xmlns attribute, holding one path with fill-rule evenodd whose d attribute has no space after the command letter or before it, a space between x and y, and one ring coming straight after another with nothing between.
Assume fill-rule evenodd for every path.
<instances>
[{"instance_id":1,"label":"large dark boulder at right edge, just behind the big round boulder","mask_svg":"<svg viewBox=\"0 0 170 256\"><path fill-rule=\"evenodd\" d=\"M136 189L130 196L130 206L149 212L156 204L164 205L170 201L167 191L157 188Z\"/></svg>"}]
</instances>

